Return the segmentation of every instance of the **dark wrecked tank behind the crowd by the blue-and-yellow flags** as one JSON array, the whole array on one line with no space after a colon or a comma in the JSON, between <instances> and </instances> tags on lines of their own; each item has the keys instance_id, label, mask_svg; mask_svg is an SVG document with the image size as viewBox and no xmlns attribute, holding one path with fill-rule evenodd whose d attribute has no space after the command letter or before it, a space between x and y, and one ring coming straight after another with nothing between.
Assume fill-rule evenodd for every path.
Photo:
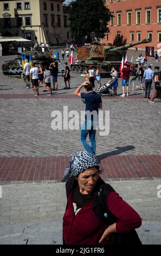
<instances>
[{"instance_id":1,"label":"dark wrecked tank behind the crowd by the blue-and-yellow flags","mask_svg":"<svg viewBox=\"0 0 161 256\"><path fill-rule=\"evenodd\" d=\"M2 71L4 75L12 74L12 75L21 75L23 70L22 70L22 54L11 51L12 53L17 53L17 58L12 59L12 60L7 60L4 62L2 65ZM51 58L47 53L42 52L41 47L36 47L35 50L25 50L22 52L23 53L23 59L24 56L26 59L30 59L33 63L35 64L42 64L43 66L50 65L50 63L53 62L53 58Z\"/></svg>"}]
</instances>

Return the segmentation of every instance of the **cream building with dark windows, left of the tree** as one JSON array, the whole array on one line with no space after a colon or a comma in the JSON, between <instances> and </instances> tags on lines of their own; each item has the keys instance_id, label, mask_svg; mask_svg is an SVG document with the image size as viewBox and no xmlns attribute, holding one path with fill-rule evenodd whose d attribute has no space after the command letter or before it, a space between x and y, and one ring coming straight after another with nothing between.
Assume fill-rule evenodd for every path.
<instances>
[{"instance_id":1,"label":"cream building with dark windows, left of the tree","mask_svg":"<svg viewBox=\"0 0 161 256\"><path fill-rule=\"evenodd\" d=\"M1 36L22 36L34 42L63 44L72 41L68 8L63 0L0 0Z\"/></svg>"}]
</instances>

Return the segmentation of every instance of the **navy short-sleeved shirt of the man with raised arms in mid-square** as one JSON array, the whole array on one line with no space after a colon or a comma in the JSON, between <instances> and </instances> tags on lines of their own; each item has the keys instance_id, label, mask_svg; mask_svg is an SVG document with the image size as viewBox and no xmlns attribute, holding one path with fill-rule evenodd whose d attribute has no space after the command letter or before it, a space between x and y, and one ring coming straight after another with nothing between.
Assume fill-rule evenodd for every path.
<instances>
[{"instance_id":1,"label":"navy short-sleeved shirt of the man with raised arms in mid-square","mask_svg":"<svg viewBox=\"0 0 161 256\"><path fill-rule=\"evenodd\" d=\"M99 104L102 103L102 99L99 93L81 93L81 98L86 100L86 111L96 111L98 113ZM88 119L87 115L85 115L85 119ZM93 115L91 120L93 120Z\"/></svg>"}]
</instances>

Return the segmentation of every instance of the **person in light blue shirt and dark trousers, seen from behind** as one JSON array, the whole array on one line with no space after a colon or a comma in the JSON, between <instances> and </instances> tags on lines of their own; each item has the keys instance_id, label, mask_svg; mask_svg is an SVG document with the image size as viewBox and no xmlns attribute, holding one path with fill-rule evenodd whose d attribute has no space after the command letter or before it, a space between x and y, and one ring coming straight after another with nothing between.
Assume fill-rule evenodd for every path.
<instances>
[{"instance_id":1,"label":"person in light blue shirt and dark trousers, seen from behind","mask_svg":"<svg viewBox=\"0 0 161 256\"><path fill-rule=\"evenodd\" d=\"M152 85L152 78L154 75L154 71L151 70L151 66L148 66L148 69L144 71L145 78L145 97L144 99L150 99L150 89Z\"/></svg>"}]
</instances>

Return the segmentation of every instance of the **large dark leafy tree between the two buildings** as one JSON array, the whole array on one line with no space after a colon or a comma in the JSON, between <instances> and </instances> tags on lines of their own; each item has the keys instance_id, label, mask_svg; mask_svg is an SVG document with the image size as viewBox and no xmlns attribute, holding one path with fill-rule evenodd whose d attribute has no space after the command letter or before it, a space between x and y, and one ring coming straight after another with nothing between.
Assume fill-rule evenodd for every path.
<instances>
[{"instance_id":1,"label":"large dark leafy tree between the two buildings","mask_svg":"<svg viewBox=\"0 0 161 256\"><path fill-rule=\"evenodd\" d=\"M70 31L76 40L87 36L91 42L92 38L104 38L109 32L107 23L113 15L105 3L105 0L75 0L69 4Z\"/></svg>"}]
</instances>

